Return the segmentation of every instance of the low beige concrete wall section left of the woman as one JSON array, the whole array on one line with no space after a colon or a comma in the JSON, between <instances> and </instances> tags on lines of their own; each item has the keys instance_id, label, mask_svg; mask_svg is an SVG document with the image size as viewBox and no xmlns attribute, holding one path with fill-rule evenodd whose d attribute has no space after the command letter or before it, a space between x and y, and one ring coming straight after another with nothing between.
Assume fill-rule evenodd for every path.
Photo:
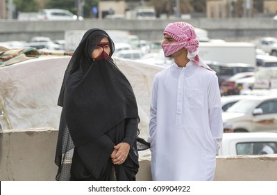
<instances>
[{"instance_id":1,"label":"low beige concrete wall section left of the woman","mask_svg":"<svg viewBox=\"0 0 277 195\"><path fill-rule=\"evenodd\" d=\"M54 180L57 131L7 130L0 134L0 180Z\"/></svg>"}]
</instances>

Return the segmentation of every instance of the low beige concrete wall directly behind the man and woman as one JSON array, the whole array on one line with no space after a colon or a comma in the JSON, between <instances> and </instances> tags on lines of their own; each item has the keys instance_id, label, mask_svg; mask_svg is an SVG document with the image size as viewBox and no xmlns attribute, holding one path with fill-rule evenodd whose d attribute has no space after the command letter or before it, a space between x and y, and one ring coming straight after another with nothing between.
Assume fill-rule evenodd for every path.
<instances>
[{"instance_id":1,"label":"low beige concrete wall directly behind the man and woman","mask_svg":"<svg viewBox=\"0 0 277 195\"><path fill-rule=\"evenodd\" d=\"M58 131L52 128L0 133L0 180L55 180L57 137ZM140 159L137 180L151 180L150 164L149 159ZM217 157L215 180L277 181L277 155Z\"/></svg>"}]
</instances>

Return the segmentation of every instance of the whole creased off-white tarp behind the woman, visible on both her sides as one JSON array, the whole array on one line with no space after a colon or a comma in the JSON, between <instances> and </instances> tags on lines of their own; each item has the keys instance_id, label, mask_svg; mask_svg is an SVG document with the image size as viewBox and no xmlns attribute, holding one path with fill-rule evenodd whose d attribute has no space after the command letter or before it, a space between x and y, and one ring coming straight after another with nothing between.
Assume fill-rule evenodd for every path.
<instances>
[{"instance_id":1,"label":"whole creased off-white tarp behind the woman, visible on both her sides","mask_svg":"<svg viewBox=\"0 0 277 195\"><path fill-rule=\"evenodd\" d=\"M0 123L3 129L58 129L58 95L70 56L40 56L0 68ZM140 114L140 137L149 137L149 98L153 77L164 69L126 59L115 63L131 82Z\"/></svg>"}]
</instances>

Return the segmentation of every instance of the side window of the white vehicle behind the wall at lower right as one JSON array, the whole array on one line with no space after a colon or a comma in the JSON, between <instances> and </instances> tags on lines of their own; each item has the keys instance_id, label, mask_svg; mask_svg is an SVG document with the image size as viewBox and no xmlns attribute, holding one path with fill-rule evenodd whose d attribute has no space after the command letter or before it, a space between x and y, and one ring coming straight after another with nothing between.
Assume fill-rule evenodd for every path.
<instances>
[{"instance_id":1,"label":"side window of the white vehicle behind the wall at lower right","mask_svg":"<svg viewBox=\"0 0 277 195\"><path fill-rule=\"evenodd\" d=\"M265 155L277 153L277 143L265 142L242 142L236 144L237 155Z\"/></svg>"}]
</instances>

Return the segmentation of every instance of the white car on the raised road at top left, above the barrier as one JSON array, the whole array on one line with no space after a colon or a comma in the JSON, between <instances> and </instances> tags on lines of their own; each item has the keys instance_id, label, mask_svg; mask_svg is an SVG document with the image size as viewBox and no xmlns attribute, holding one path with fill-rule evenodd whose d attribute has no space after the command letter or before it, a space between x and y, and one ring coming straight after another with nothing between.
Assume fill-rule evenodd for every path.
<instances>
[{"instance_id":1,"label":"white car on the raised road at top left, above the barrier","mask_svg":"<svg viewBox=\"0 0 277 195\"><path fill-rule=\"evenodd\" d=\"M83 20L83 17L77 17L69 10L62 9L42 9L37 14L38 20Z\"/></svg>"}]
</instances>

